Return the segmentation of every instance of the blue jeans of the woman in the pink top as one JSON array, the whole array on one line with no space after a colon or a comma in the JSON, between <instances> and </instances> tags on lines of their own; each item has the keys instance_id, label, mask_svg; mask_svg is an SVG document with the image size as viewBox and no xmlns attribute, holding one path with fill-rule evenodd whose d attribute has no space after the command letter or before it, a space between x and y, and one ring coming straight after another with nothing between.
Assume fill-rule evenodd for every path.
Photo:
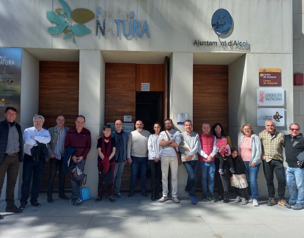
<instances>
[{"instance_id":1,"label":"blue jeans of the woman in the pink top","mask_svg":"<svg viewBox=\"0 0 304 238\"><path fill-rule=\"evenodd\" d=\"M259 197L259 189L257 187L257 174L259 173L260 165L256 164L254 167L250 167L250 161L244 161L245 164L245 175L248 183L248 195L252 199Z\"/></svg>"}]
</instances>

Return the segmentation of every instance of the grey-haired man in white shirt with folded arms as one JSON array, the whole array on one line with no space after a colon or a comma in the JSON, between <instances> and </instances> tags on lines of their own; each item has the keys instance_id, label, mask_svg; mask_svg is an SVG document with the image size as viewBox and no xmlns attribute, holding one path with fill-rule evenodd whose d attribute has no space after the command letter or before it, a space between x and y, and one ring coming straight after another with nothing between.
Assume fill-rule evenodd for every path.
<instances>
[{"instance_id":1,"label":"grey-haired man in white shirt with folded arms","mask_svg":"<svg viewBox=\"0 0 304 238\"><path fill-rule=\"evenodd\" d=\"M39 188L43 174L47 153L47 143L51 137L48 130L43 129L44 117L35 115L33 117L33 127L26 128L23 133L24 156L23 174L21 186L20 209L25 209L29 198L29 187L33 177L30 203L34 207L40 207L38 203Z\"/></svg>"}]
</instances>

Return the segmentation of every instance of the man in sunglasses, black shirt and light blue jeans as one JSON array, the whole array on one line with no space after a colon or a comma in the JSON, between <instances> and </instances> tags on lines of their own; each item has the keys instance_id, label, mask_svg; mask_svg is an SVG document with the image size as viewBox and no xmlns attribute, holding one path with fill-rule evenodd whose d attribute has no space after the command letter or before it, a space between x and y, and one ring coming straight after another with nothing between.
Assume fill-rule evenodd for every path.
<instances>
[{"instance_id":1,"label":"man in sunglasses, black shirt and light blue jeans","mask_svg":"<svg viewBox=\"0 0 304 238\"><path fill-rule=\"evenodd\" d=\"M300 135L300 126L292 123L289 126L290 135L285 135L285 154L288 164L286 169L286 182L289 188L289 205L292 209L301 210L304 208L304 170L299 168L297 156L304 151L304 137ZM295 183L298 194L295 190Z\"/></svg>"}]
</instances>

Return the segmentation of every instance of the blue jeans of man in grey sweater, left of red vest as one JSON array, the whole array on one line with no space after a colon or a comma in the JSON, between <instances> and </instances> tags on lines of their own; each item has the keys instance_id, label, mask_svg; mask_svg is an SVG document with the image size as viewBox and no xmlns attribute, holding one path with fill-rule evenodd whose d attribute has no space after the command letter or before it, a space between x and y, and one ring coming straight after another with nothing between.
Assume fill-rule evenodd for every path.
<instances>
[{"instance_id":1,"label":"blue jeans of man in grey sweater, left of red vest","mask_svg":"<svg viewBox=\"0 0 304 238\"><path fill-rule=\"evenodd\" d=\"M188 173L187 185L185 190L190 192L190 197L195 197L195 189L197 185L197 166L198 160L190 160L183 162Z\"/></svg>"}]
</instances>

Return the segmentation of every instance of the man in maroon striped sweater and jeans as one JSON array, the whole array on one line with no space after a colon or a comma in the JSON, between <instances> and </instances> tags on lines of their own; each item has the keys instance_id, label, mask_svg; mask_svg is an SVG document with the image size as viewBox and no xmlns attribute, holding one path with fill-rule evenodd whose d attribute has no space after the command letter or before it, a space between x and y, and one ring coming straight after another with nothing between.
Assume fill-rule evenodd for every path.
<instances>
[{"instance_id":1,"label":"man in maroon striped sweater and jeans","mask_svg":"<svg viewBox=\"0 0 304 238\"><path fill-rule=\"evenodd\" d=\"M85 168L85 160L88 152L91 149L91 132L84 128L85 117L78 115L75 120L75 127L67 130L67 134L64 140L64 149L68 146L75 148L77 151L71 156L74 163L80 163L82 171ZM80 198L80 185L81 182L75 182L71 180L72 184L72 196L70 198L71 205L78 205L82 202Z\"/></svg>"}]
</instances>

